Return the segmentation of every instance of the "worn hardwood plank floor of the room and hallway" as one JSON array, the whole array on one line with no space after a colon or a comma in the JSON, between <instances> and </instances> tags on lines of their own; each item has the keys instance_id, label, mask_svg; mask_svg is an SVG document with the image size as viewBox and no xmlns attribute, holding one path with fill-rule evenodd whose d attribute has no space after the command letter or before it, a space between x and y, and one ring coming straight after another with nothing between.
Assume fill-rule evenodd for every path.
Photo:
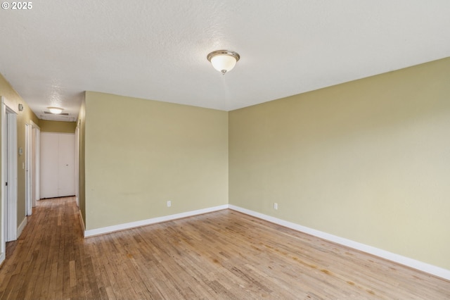
<instances>
[{"instance_id":1,"label":"worn hardwood plank floor of the room and hallway","mask_svg":"<svg viewBox=\"0 0 450 300\"><path fill-rule=\"evenodd\" d=\"M450 282L224 210L84 239L72 197L7 245L0 299L450 299Z\"/></svg>"}]
</instances>

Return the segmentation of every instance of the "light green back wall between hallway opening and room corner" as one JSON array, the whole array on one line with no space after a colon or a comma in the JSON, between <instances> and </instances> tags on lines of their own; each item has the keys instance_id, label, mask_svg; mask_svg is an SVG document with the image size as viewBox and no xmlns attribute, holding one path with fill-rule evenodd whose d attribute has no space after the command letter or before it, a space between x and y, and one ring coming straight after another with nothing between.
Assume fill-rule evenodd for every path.
<instances>
[{"instance_id":1,"label":"light green back wall between hallway opening and room corner","mask_svg":"<svg viewBox=\"0 0 450 300\"><path fill-rule=\"evenodd\" d=\"M86 92L85 139L86 230L228 204L225 111Z\"/></svg>"}]
</instances>

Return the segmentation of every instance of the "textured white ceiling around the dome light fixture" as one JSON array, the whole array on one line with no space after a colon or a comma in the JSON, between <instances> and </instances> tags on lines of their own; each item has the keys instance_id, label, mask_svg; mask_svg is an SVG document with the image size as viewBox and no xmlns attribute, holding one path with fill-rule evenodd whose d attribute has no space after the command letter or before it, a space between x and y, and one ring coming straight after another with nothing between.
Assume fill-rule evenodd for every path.
<instances>
[{"instance_id":1,"label":"textured white ceiling around the dome light fixture","mask_svg":"<svg viewBox=\"0 0 450 300\"><path fill-rule=\"evenodd\" d=\"M229 111L448 57L450 1L32 1L1 9L0 42L38 116L76 118L85 90Z\"/></svg>"}]
</instances>

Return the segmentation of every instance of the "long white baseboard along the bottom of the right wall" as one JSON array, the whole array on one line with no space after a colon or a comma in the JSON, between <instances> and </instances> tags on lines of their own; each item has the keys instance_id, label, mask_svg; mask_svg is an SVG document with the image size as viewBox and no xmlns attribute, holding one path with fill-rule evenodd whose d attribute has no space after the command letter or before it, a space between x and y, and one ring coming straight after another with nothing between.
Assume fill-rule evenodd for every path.
<instances>
[{"instance_id":1,"label":"long white baseboard along the bottom of the right wall","mask_svg":"<svg viewBox=\"0 0 450 300\"><path fill-rule=\"evenodd\" d=\"M394 254L392 252L385 251L383 249L378 249L373 246L368 246L366 244L354 242L350 239L344 239L344 238L338 237L336 235L330 235L326 232L314 230L309 227L304 227L302 225L298 225L298 224L291 223L291 222L288 222L285 220L274 218L274 217L271 217L270 215L264 215L262 213L257 213L256 211L250 211L249 209L241 208L239 206L234 206L234 205L229 204L229 208L232 209L233 211L239 211L240 213L252 215L256 218L260 218L262 220L266 220L271 223L275 223L278 225L282 225L284 227L291 228L293 230L304 232L304 233L307 233L308 235L314 235L315 237L320 237L321 239L326 239L330 242L335 242L337 244L348 246L353 249L364 251L368 254L373 254L375 256L385 258L389 261L394 261L395 263L400 263L401 265L406 265L408 267L415 268L417 270L421 270L425 273L429 273L429 274L432 274L432 275L435 275L438 277L442 277L446 280L450 280L450 270L446 270L444 268L437 267L436 265L430 265L428 263L423 263L422 261L416 261L415 259L408 258L406 256Z\"/></svg>"}]
</instances>

